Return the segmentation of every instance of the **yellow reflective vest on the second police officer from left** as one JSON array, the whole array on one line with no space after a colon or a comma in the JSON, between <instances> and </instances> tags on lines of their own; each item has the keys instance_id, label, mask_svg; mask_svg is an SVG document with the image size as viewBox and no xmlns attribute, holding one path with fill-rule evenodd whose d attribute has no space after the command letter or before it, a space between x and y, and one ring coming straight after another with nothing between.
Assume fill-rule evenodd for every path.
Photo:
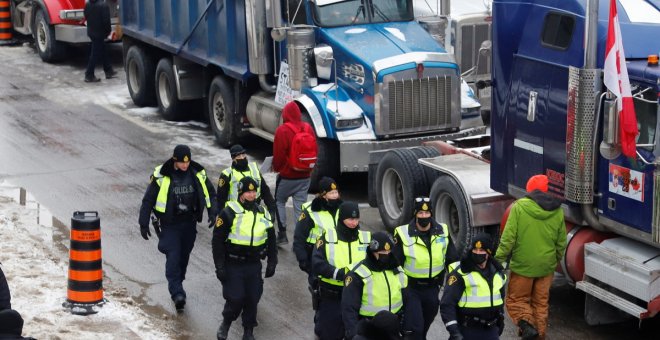
<instances>
[{"instance_id":1,"label":"yellow reflective vest on the second police officer from left","mask_svg":"<svg viewBox=\"0 0 660 340\"><path fill-rule=\"evenodd\" d=\"M235 214L234 223L232 223L227 237L231 244L256 247L266 243L268 229L273 227L267 210L255 214L253 211L243 209L241 204L236 201L230 201L227 206Z\"/></svg>"}]
</instances>

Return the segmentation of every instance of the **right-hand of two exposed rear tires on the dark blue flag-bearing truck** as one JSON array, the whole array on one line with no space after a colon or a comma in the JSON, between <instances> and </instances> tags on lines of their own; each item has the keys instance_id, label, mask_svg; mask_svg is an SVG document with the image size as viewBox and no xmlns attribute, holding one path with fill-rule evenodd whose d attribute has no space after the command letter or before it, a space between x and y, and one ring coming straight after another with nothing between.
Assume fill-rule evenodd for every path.
<instances>
[{"instance_id":1,"label":"right-hand of two exposed rear tires on the dark blue flag-bearing truck","mask_svg":"<svg viewBox=\"0 0 660 340\"><path fill-rule=\"evenodd\" d=\"M431 187L430 198L434 204L433 217L447 224L456 250L464 255L465 245L472 241L474 230L470 227L467 201L458 183L448 175L438 177Z\"/></svg>"}]
</instances>

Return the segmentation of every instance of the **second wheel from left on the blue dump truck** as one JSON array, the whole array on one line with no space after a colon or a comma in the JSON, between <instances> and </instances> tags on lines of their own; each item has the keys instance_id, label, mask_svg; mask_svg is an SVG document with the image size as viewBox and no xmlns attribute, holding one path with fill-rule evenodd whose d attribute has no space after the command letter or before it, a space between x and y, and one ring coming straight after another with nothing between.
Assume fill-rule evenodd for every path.
<instances>
[{"instance_id":1,"label":"second wheel from left on the blue dump truck","mask_svg":"<svg viewBox=\"0 0 660 340\"><path fill-rule=\"evenodd\" d=\"M155 89L158 110L166 120L181 120L184 103L177 98L172 62L163 58L156 66Z\"/></svg>"}]
</instances>

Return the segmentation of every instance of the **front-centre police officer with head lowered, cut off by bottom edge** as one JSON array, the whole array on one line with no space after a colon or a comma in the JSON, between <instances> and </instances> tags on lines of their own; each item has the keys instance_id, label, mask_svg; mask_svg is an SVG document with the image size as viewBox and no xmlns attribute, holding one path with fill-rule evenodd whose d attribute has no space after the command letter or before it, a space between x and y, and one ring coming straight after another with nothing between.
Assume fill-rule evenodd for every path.
<instances>
[{"instance_id":1,"label":"front-centre police officer with head lowered, cut off by bottom edge","mask_svg":"<svg viewBox=\"0 0 660 340\"><path fill-rule=\"evenodd\" d=\"M353 339L362 319L372 319L380 311L398 314L400 319L408 279L391 254L393 247L390 235L373 233L367 257L346 275L341 311L347 339Z\"/></svg>"}]
</instances>

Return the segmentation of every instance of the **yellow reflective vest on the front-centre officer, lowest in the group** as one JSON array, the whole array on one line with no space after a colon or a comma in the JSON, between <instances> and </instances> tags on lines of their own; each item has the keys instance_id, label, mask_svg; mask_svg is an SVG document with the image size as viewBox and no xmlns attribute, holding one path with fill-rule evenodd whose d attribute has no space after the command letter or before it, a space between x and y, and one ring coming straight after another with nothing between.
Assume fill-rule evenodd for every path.
<instances>
[{"instance_id":1,"label":"yellow reflective vest on the front-centre officer, lowest in the group","mask_svg":"<svg viewBox=\"0 0 660 340\"><path fill-rule=\"evenodd\" d=\"M382 310L397 313L403 307L401 289L408 285L408 278L401 267L397 269L396 274L392 270L372 272L364 264L354 269L364 283L360 315L372 317Z\"/></svg>"}]
</instances>

